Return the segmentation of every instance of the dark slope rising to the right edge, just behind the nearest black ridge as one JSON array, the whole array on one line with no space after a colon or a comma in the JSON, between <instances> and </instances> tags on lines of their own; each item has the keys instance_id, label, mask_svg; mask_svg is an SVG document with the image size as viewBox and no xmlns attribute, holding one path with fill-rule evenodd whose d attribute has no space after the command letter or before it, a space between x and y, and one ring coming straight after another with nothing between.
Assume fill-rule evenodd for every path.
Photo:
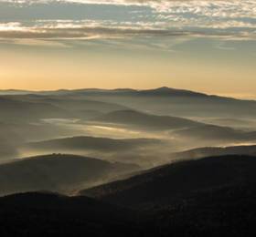
<instances>
[{"instance_id":1,"label":"dark slope rising to the right edge, just behind the nearest black ridge","mask_svg":"<svg viewBox=\"0 0 256 237\"><path fill-rule=\"evenodd\" d=\"M81 193L129 207L161 207L198 191L255 182L255 168L255 157L247 156L181 161Z\"/></svg>"}]
</instances>

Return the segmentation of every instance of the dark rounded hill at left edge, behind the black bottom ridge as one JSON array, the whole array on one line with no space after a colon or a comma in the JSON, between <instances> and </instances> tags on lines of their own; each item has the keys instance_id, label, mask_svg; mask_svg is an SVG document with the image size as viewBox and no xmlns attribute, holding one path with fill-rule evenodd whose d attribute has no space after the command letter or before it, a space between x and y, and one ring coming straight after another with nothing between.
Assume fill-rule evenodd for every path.
<instances>
[{"instance_id":1,"label":"dark rounded hill at left edge, behind the black bottom ridge","mask_svg":"<svg viewBox=\"0 0 256 237\"><path fill-rule=\"evenodd\" d=\"M74 155L52 154L16 160L0 165L0 195L25 191L75 191L137 169L135 165Z\"/></svg>"}]
</instances>

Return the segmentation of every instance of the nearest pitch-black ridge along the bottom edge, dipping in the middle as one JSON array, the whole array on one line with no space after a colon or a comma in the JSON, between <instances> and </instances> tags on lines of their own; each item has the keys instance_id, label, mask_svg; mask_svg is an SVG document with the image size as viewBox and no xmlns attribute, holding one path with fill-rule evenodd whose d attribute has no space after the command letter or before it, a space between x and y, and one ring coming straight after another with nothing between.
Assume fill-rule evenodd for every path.
<instances>
[{"instance_id":1,"label":"nearest pitch-black ridge along the bottom edge, dipping in the middle","mask_svg":"<svg viewBox=\"0 0 256 237\"><path fill-rule=\"evenodd\" d=\"M255 236L255 184L198 192L134 211L85 197L26 193L0 198L1 236Z\"/></svg>"}]
</instances>

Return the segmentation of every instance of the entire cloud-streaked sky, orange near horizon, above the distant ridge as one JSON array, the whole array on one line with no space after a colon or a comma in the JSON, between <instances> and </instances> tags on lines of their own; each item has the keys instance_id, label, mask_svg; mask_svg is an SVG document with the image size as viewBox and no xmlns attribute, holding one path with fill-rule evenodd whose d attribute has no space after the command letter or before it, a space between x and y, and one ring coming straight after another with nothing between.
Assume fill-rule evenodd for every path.
<instances>
[{"instance_id":1,"label":"entire cloud-streaked sky, orange near horizon, above the distant ridge","mask_svg":"<svg viewBox=\"0 0 256 237\"><path fill-rule=\"evenodd\" d=\"M0 0L0 88L256 98L256 0Z\"/></svg>"}]
</instances>

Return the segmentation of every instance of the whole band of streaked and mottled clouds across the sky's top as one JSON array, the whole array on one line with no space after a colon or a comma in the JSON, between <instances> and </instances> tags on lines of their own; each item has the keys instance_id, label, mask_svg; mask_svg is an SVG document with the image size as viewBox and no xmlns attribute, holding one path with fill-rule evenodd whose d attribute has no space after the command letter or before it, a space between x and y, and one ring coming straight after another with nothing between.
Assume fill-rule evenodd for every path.
<instances>
[{"instance_id":1,"label":"whole band of streaked and mottled clouds across the sky's top","mask_svg":"<svg viewBox=\"0 0 256 237\"><path fill-rule=\"evenodd\" d=\"M101 39L117 42L123 39L138 41L138 39L150 38L151 40L147 40L146 44L157 47L162 46L162 42L168 45L166 43L168 40L177 37L211 37L222 41L256 39L256 0L18 0L15 2L0 0L0 2L8 2L6 9L9 7L6 19L0 21L0 38L2 41L7 39L9 42L15 41L19 44L58 46L57 41L62 40ZM96 14L92 16L84 14L80 15L80 19L76 19L76 11L69 16L61 15L60 11L59 19L52 19L52 15L48 15L52 4L55 6L57 4L55 9L65 5L66 10L73 5L79 4L80 8L86 9L88 5L95 4L91 9ZM45 5L48 7L44 8ZM103 8L98 8L97 5L141 7L135 9L123 7L126 18L122 19L122 15L120 17L115 15L117 9L110 12L103 11ZM151 10L145 9L144 6ZM26 9L26 14L23 12L23 15L27 15L27 18L9 22L8 19L16 18L16 15L12 15L14 7L16 11ZM29 18L29 15L33 15L33 19ZM42 15L44 18L40 18ZM59 46L61 45L62 43L59 43Z\"/></svg>"}]
</instances>

